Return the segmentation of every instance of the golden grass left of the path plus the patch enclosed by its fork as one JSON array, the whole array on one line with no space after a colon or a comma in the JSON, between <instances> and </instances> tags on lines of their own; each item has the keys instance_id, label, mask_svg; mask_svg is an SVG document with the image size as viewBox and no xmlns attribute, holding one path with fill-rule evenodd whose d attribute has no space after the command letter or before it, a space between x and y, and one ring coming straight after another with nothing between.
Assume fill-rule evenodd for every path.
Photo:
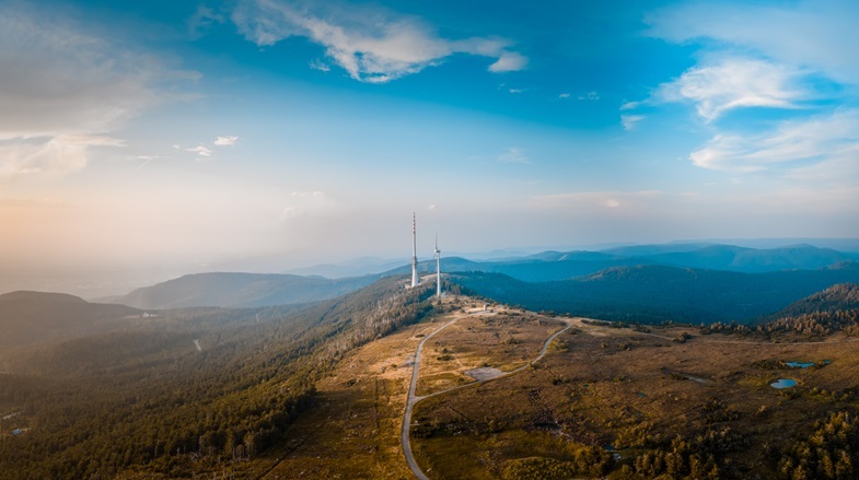
<instances>
[{"instance_id":1,"label":"golden grass left of the path plus the patch enclosed by its fork","mask_svg":"<svg viewBox=\"0 0 859 480\"><path fill-rule=\"evenodd\" d=\"M511 370L539 352L545 339L564 323L501 308L483 312L463 297L445 298L455 313L373 341L344 359L334 375L316 385L320 406L287 432L291 438L259 461L257 476L267 479L407 479L414 478L399 445L411 362L420 340L452 318L457 320L423 349L423 391L471 383L463 372L491 365ZM499 332L498 336L495 332ZM515 342L504 343L509 338ZM437 344L436 341L439 341ZM438 360L450 346L451 360Z\"/></svg>"}]
</instances>

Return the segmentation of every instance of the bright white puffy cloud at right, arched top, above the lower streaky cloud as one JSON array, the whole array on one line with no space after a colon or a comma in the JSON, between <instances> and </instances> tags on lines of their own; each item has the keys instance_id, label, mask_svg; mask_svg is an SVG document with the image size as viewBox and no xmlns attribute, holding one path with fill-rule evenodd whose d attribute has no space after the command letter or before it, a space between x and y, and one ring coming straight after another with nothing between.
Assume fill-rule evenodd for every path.
<instances>
[{"instance_id":1,"label":"bright white puffy cloud at right, arched top, above the lower streaky cloud","mask_svg":"<svg viewBox=\"0 0 859 480\"><path fill-rule=\"evenodd\" d=\"M797 108L810 96L799 86L800 75L793 68L764 60L724 58L661 85L654 99L693 102L706 121L741 107Z\"/></svg>"}]
</instances>

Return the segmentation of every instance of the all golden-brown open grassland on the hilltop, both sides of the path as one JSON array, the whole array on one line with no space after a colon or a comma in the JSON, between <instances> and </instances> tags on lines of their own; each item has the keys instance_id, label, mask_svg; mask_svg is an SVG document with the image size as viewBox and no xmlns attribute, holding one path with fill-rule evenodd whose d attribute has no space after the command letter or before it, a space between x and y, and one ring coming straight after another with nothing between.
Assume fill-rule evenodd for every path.
<instances>
[{"instance_id":1,"label":"all golden-brown open grassland on the hilltop, both sides of the path","mask_svg":"<svg viewBox=\"0 0 859 480\"><path fill-rule=\"evenodd\" d=\"M399 445L403 412L419 341L475 304L364 346L317 385L321 405L297 421L288 445L259 463L268 479L410 479ZM833 397L856 386L859 343L774 343L739 336L700 336L694 328L651 333L566 319L573 329L555 340L534 367L425 399L415 409L413 449L433 479L498 478L516 458L564 460L583 445L612 445L632 458L642 441L669 441L730 426L752 446L731 454L735 465L771 473L762 452L778 447L827 412L856 406ZM427 341L418 395L473 378L484 365L510 371L536 356L564 321L518 311L460 319ZM671 339L693 336L681 343ZM510 341L513 338L515 341ZM831 339L840 340L839 337ZM441 359L449 355L446 359ZM765 360L832 363L820 368L762 370ZM790 396L769 386L794 378ZM709 419L704 405L720 399L732 419ZM611 473L612 475L616 473Z\"/></svg>"}]
</instances>

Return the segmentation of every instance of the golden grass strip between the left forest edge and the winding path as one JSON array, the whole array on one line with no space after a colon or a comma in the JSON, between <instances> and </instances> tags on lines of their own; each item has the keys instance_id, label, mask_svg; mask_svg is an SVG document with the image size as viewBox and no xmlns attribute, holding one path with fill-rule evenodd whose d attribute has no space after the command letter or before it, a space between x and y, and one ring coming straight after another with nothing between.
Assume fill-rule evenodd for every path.
<instances>
[{"instance_id":1,"label":"golden grass strip between the left forest edge and the winding path","mask_svg":"<svg viewBox=\"0 0 859 480\"><path fill-rule=\"evenodd\" d=\"M444 301L478 312L474 302ZM287 432L290 438L259 461L266 479L409 479L399 444L411 363L420 340L457 311L373 341L316 385L320 405Z\"/></svg>"}]
</instances>

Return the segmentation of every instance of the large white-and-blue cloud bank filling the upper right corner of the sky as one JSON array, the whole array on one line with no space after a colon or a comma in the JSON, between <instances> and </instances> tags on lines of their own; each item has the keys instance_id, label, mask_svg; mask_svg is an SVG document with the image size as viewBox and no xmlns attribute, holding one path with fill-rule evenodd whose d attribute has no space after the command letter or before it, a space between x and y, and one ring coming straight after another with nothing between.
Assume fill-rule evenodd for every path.
<instances>
[{"instance_id":1,"label":"large white-and-blue cloud bank filling the upper right corner of the sky","mask_svg":"<svg viewBox=\"0 0 859 480\"><path fill-rule=\"evenodd\" d=\"M690 2L653 12L646 19L649 33L697 45L701 60L643 103L688 102L711 124L713 136L689 154L696 166L734 175L765 173L786 184L854 184L859 173L850 166L859 151L858 15L858 3L827 0ZM841 107L833 109L833 103ZM789 119L738 122L731 130L715 121L748 107L794 112L783 117Z\"/></svg>"}]
</instances>

